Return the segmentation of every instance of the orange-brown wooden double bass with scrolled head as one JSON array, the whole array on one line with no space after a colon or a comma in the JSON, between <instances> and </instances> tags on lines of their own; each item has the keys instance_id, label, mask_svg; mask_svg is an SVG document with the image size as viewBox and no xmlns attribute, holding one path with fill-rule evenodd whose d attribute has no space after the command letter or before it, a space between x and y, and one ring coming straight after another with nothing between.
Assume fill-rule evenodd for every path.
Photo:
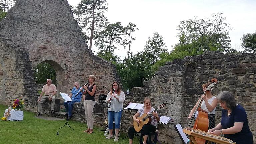
<instances>
[{"instance_id":1,"label":"orange-brown wooden double bass with scrolled head","mask_svg":"<svg viewBox=\"0 0 256 144\"><path fill-rule=\"evenodd\" d=\"M210 92L210 90L218 83L216 78L212 78L211 82L212 82L212 84L210 84L207 87L207 89L204 91L203 95L205 95L207 92ZM194 119L194 116L195 116L196 112L198 111L198 115L197 115L197 118L196 118L193 128L208 132L208 127L209 127L208 112L203 110L202 108L200 108L202 101L203 101L203 99L200 98L199 104L196 107L196 110L193 113L193 116L191 117L187 127L190 127L192 120ZM205 139L201 139L201 138L197 138L197 137L195 139L198 144L204 144L206 141Z\"/></svg>"}]
</instances>

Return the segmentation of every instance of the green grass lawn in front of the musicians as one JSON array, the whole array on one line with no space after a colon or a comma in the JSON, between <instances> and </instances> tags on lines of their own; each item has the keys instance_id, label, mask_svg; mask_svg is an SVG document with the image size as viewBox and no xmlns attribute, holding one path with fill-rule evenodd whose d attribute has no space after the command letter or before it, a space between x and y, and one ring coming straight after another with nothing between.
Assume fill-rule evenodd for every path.
<instances>
[{"instance_id":1,"label":"green grass lawn in front of the musicians","mask_svg":"<svg viewBox=\"0 0 256 144\"><path fill-rule=\"evenodd\" d=\"M0 117L4 115L8 106L0 105ZM104 128L94 127L92 134L83 133L86 130L86 123L70 120L68 126L61 129L66 120L44 120L35 117L36 113L23 111L22 121L2 121L0 120L0 144L127 144L129 143L128 134L121 133L118 142L114 139L105 139ZM59 131L59 135L56 135ZM135 137L134 144L139 140Z\"/></svg>"}]
</instances>

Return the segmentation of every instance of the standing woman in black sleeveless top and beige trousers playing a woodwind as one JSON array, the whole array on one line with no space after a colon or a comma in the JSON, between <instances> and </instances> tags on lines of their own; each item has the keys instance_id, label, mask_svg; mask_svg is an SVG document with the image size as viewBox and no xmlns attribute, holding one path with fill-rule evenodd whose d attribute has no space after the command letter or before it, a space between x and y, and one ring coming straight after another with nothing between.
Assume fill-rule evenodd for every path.
<instances>
[{"instance_id":1,"label":"standing woman in black sleeveless top and beige trousers playing a woodwind","mask_svg":"<svg viewBox=\"0 0 256 144\"><path fill-rule=\"evenodd\" d=\"M83 86L83 89L85 89L85 92L81 91L85 97L84 99L84 109L85 109L85 116L87 121L87 130L84 132L91 134L93 133L93 117L92 117L92 111L95 105L95 93L97 86L94 84L94 81L96 80L96 77L94 75L90 75L88 78L89 84L87 86Z\"/></svg>"}]
</instances>

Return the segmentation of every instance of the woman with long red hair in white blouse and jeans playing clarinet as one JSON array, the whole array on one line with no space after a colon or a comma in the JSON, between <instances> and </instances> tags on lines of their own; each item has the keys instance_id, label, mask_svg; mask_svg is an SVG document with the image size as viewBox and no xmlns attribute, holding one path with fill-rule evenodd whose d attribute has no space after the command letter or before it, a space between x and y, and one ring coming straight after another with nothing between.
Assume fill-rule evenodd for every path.
<instances>
[{"instance_id":1,"label":"woman with long red hair in white blouse and jeans playing clarinet","mask_svg":"<svg viewBox=\"0 0 256 144\"><path fill-rule=\"evenodd\" d=\"M115 89L115 91L114 91ZM111 86L111 91L108 93L106 98L106 103L109 103L108 107L108 128L109 128L109 136L106 139L114 138L113 135L113 121L115 120L115 139L114 141L118 141L119 137L119 129L120 129L120 121L123 110L123 102L125 99L125 94L120 90L119 83L113 82Z\"/></svg>"}]
</instances>

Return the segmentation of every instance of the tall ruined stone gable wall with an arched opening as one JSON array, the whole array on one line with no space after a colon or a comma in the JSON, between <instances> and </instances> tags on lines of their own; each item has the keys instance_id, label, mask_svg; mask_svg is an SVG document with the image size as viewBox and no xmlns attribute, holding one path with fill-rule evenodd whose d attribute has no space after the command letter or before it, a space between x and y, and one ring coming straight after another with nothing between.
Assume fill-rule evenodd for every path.
<instances>
[{"instance_id":1,"label":"tall ruined stone gable wall with an arched opening","mask_svg":"<svg viewBox=\"0 0 256 144\"><path fill-rule=\"evenodd\" d=\"M36 112L33 68L41 62L55 69L57 92L69 94L75 81L82 86L89 75L97 78L97 95L119 81L115 66L88 50L66 0L17 0L0 23L0 103L19 97Z\"/></svg>"}]
</instances>

